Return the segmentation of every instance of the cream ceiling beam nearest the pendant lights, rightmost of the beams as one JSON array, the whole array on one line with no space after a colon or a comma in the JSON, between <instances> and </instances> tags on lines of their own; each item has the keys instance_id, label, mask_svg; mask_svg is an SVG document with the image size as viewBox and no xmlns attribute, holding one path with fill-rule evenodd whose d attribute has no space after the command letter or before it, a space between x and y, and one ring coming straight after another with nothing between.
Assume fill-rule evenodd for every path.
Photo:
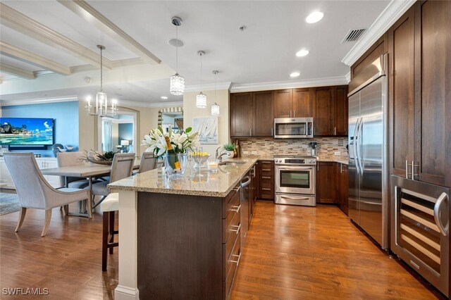
<instances>
[{"instance_id":1,"label":"cream ceiling beam nearest the pendant lights, rightmost of the beams","mask_svg":"<svg viewBox=\"0 0 451 300\"><path fill-rule=\"evenodd\" d=\"M77 15L79 15L85 22L97 27L101 32L104 32L109 37L115 39L121 43L127 49L132 51L138 57L142 58L146 63L161 63L161 60L156 57L152 52L144 48L135 39L130 37L121 28L112 23L104 15L96 11L95 8L87 4L84 0L57 0L63 6L70 9Z\"/></svg>"}]
</instances>

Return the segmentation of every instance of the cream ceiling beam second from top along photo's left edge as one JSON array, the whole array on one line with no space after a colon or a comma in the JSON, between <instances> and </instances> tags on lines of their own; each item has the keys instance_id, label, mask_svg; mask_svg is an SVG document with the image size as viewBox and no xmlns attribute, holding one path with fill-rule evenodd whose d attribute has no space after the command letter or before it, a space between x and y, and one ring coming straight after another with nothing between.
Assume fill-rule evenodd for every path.
<instances>
[{"instance_id":1,"label":"cream ceiling beam second from top along photo's left edge","mask_svg":"<svg viewBox=\"0 0 451 300\"><path fill-rule=\"evenodd\" d=\"M43 56L39 56L6 42L0 41L0 54L4 54L11 58L16 58L19 61L23 61L25 63L36 65L39 68L51 70L54 73L59 73L61 75L70 75L70 68L68 66L61 65L61 63L56 63L56 61L51 61Z\"/></svg>"}]
</instances>

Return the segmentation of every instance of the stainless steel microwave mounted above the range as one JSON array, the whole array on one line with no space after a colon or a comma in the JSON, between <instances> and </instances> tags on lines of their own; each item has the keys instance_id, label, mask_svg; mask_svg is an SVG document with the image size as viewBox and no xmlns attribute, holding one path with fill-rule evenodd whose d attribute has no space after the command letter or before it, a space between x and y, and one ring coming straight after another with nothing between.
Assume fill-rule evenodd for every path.
<instances>
[{"instance_id":1,"label":"stainless steel microwave mounted above the range","mask_svg":"<svg viewBox=\"0 0 451 300\"><path fill-rule=\"evenodd\" d=\"M313 137L313 118L275 118L276 139L305 139Z\"/></svg>"}]
</instances>

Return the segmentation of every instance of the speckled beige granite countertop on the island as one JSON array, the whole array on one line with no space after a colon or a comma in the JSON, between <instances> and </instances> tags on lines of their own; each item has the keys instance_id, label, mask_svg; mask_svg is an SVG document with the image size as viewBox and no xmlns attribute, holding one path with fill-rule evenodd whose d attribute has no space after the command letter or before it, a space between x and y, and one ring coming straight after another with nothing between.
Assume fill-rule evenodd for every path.
<instances>
[{"instance_id":1,"label":"speckled beige granite countertop on the island","mask_svg":"<svg viewBox=\"0 0 451 300\"><path fill-rule=\"evenodd\" d=\"M236 166L220 165L217 173L211 173L206 168L202 168L199 173L197 170L190 169L188 165L185 177L181 178L167 177L162 168L158 168L118 180L109 184L109 187L113 191L225 197L257 160L257 158L233 158L231 161L244 161L245 163Z\"/></svg>"}]
</instances>

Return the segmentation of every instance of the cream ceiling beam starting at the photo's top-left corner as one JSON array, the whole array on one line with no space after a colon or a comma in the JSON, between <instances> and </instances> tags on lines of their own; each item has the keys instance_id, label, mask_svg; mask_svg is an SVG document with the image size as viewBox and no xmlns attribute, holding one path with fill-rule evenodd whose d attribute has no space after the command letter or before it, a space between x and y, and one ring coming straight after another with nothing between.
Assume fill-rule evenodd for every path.
<instances>
[{"instance_id":1,"label":"cream ceiling beam starting at the photo's top-left corner","mask_svg":"<svg viewBox=\"0 0 451 300\"><path fill-rule=\"evenodd\" d=\"M38 23L32 18L15 11L13 8L0 3L0 23L6 27L10 27L32 39L49 44L56 48L69 51L76 57L86 61L90 65L100 68L100 55L87 49L85 46L74 42L72 39L65 37L58 32L51 30L49 27ZM111 61L104 58L104 68L111 69Z\"/></svg>"}]
</instances>

